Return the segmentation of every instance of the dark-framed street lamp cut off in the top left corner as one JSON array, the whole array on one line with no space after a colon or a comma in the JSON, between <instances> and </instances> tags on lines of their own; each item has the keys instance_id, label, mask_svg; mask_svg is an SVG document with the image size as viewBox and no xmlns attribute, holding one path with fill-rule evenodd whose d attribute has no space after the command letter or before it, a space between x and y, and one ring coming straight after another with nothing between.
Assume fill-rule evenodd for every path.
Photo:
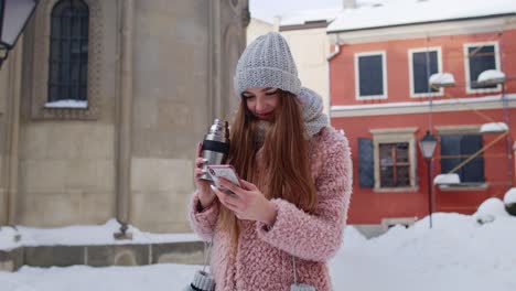
<instances>
[{"instance_id":1,"label":"dark-framed street lamp cut off in the top left corner","mask_svg":"<svg viewBox=\"0 0 516 291\"><path fill-rule=\"evenodd\" d=\"M0 0L0 67L14 47L39 0Z\"/></svg>"}]
</instances>

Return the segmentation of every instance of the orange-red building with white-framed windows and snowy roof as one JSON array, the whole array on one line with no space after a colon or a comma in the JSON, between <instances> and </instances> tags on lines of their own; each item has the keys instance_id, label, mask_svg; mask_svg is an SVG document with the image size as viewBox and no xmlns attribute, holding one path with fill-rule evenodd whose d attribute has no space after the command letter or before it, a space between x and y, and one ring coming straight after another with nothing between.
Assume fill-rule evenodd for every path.
<instances>
[{"instance_id":1,"label":"orange-red building with white-framed windows and snowy roof","mask_svg":"<svg viewBox=\"0 0 516 291\"><path fill-rule=\"evenodd\" d=\"M331 120L346 132L354 160L351 224L385 229L429 212L472 214L514 185L516 2L509 2L386 1L343 10L330 24ZM505 82L479 82L486 71L505 74ZM439 73L450 73L454 86L430 86ZM419 147L428 130L438 141L430 164ZM428 179L450 172L460 183Z\"/></svg>"}]
</instances>

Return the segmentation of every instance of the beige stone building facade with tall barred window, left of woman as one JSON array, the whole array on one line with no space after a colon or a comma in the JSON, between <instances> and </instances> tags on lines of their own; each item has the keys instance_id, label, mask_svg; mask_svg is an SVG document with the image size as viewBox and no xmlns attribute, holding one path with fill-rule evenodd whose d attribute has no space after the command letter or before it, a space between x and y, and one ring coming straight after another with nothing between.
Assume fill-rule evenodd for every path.
<instances>
[{"instance_id":1,"label":"beige stone building facade with tall barred window, left of woman","mask_svg":"<svg viewBox=\"0 0 516 291\"><path fill-rule=\"evenodd\" d=\"M0 224L189 231L248 23L247 0L40 1L0 71Z\"/></svg>"}]
</instances>

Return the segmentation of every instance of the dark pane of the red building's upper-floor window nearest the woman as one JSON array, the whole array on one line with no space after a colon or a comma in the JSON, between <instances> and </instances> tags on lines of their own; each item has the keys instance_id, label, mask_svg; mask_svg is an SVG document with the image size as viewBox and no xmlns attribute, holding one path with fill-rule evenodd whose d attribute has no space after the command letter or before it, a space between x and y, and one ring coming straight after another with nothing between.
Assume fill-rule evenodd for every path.
<instances>
[{"instance_id":1,"label":"dark pane of the red building's upper-floor window nearest the woman","mask_svg":"<svg viewBox=\"0 0 516 291\"><path fill-rule=\"evenodd\" d=\"M358 57L361 96L384 95L384 73L381 57L381 55Z\"/></svg>"}]
</instances>

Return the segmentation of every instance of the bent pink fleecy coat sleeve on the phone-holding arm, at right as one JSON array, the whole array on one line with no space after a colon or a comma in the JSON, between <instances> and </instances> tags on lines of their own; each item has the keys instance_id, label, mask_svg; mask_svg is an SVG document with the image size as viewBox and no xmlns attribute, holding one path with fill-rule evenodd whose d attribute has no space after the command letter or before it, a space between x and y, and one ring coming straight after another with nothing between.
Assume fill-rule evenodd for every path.
<instances>
[{"instance_id":1,"label":"bent pink fleecy coat sleeve on the phone-holding arm, at right","mask_svg":"<svg viewBox=\"0 0 516 291\"><path fill-rule=\"evenodd\" d=\"M284 200L272 200L277 218L271 228L257 224L268 244L305 260L326 261L341 247L352 193L353 169L347 139L334 133L324 141L322 170L315 179L318 206L308 214Z\"/></svg>"}]
</instances>

